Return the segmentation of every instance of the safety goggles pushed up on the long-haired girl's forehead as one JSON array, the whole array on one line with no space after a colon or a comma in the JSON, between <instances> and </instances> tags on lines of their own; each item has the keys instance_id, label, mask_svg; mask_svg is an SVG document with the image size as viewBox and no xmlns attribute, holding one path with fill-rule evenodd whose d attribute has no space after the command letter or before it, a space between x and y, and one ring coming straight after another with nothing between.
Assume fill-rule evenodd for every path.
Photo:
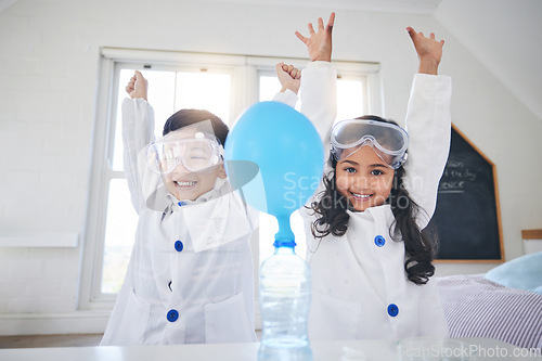
<instances>
[{"instance_id":1,"label":"safety goggles pushed up on the long-haired girl's forehead","mask_svg":"<svg viewBox=\"0 0 542 361\"><path fill-rule=\"evenodd\" d=\"M345 151L351 151L348 157L362 146L370 145L391 169L397 169L406 160L409 134L389 123L348 119L333 126L331 142L332 154L337 162Z\"/></svg>"}]
</instances>

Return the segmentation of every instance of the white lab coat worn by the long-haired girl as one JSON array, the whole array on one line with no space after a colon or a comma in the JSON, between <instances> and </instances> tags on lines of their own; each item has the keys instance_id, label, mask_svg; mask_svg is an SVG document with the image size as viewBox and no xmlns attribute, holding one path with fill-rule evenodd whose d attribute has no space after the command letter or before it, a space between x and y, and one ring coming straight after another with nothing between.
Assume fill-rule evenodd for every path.
<instances>
[{"instance_id":1,"label":"white lab coat worn by the long-haired girl","mask_svg":"<svg viewBox=\"0 0 542 361\"><path fill-rule=\"evenodd\" d=\"M335 118L335 100L330 94L336 87L336 76L330 66L314 65L302 70L301 109L325 143ZM421 74L414 77L406 115L409 159L404 167L410 195L425 209L416 219L422 229L435 211L438 183L448 158L450 99L449 77ZM330 170L327 167L326 171ZM395 219L389 205L348 211L347 233L321 241L310 232L312 214L302 210L301 214L312 271L311 339L448 335L436 284L429 281L418 286L406 278L404 244L389 235ZM385 240L383 246L375 243L378 235Z\"/></svg>"}]
</instances>

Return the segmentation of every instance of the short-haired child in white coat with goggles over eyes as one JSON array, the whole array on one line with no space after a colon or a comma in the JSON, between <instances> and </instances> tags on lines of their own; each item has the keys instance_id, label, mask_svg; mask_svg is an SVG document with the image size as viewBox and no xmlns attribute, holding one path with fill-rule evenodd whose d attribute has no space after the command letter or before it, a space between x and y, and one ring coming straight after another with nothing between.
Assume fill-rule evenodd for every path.
<instances>
[{"instance_id":1,"label":"short-haired child in white coat with goggles over eyes","mask_svg":"<svg viewBox=\"0 0 542 361\"><path fill-rule=\"evenodd\" d=\"M154 140L146 87L136 72L122 103L125 172L139 223L101 345L255 341L256 211L225 178L228 127L209 112L182 109Z\"/></svg>"}]
</instances>

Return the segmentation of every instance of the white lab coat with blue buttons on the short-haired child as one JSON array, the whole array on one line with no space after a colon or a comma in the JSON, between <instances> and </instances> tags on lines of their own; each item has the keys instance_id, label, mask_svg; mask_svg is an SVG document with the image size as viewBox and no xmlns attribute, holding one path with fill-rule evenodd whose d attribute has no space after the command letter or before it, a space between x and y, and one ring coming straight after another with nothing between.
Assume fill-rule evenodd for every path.
<instances>
[{"instance_id":1,"label":"white lab coat with blue buttons on the short-haired child","mask_svg":"<svg viewBox=\"0 0 542 361\"><path fill-rule=\"evenodd\" d=\"M154 112L122 103L125 173L139 214L125 282L101 345L255 341L249 236L257 212L228 181L181 205L144 166Z\"/></svg>"}]
</instances>

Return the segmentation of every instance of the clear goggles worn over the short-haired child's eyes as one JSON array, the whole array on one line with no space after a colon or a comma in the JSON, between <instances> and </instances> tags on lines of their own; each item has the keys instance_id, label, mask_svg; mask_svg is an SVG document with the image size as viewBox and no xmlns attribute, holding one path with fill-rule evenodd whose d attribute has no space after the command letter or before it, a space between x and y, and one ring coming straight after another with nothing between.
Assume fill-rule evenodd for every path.
<instances>
[{"instance_id":1,"label":"clear goggles worn over the short-haired child's eyes","mask_svg":"<svg viewBox=\"0 0 542 361\"><path fill-rule=\"evenodd\" d=\"M151 143L146 159L153 171L167 175L181 164L190 171L215 166L219 163L222 152L222 146L216 139L198 132L194 138L168 141L166 137Z\"/></svg>"}]
</instances>

